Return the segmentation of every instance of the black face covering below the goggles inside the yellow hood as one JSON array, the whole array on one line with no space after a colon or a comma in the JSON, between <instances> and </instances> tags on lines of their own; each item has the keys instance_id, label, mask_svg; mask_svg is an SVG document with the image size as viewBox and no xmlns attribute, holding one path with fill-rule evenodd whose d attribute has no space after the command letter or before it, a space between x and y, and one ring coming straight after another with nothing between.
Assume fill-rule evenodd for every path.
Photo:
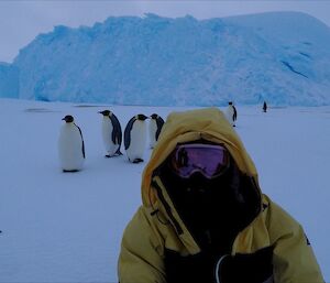
<instances>
[{"instance_id":1,"label":"black face covering below the goggles inside the yellow hood","mask_svg":"<svg viewBox=\"0 0 330 283\"><path fill-rule=\"evenodd\" d=\"M233 160L221 176L212 179L199 172L182 178L166 163L160 176L176 210L202 249L230 252L238 232L260 210L258 191L240 173Z\"/></svg>"}]
</instances>

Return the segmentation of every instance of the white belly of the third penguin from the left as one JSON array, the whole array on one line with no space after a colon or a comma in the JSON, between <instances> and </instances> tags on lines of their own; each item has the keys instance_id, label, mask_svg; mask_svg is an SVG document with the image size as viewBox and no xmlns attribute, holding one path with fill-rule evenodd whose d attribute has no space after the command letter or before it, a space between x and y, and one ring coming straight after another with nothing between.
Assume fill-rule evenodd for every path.
<instances>
[{"instance_id":1,"label":"white belly of the third penguin from the left","mask_svg":"<svg viewBox=\"0 0 330 283\"><path fill-rule=\"evenodd\" d=\"M144 121L135 121L131 130L131 142L127 149L127 154L130 161L142 159L146 144L146 126Z\"/></svg>"}]
</instances>

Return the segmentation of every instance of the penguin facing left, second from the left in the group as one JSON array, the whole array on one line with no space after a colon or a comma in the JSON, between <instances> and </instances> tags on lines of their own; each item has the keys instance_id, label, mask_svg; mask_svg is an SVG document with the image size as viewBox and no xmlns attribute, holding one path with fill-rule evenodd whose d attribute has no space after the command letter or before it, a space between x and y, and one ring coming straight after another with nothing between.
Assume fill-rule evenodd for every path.
<instances>
[{"instance_id":1,"label":"penguin facing left, second from the left in the group","mask_svg":"<svg viewBox=\"0 0 330 283\"><path fill-rule=\"evenodd\" d=\"M122 131L118 118L110 110L99 111L99 113L103 116L102 137L107 151L106 157L122 155L120 152Z\"/></svg>"}]
</instances>

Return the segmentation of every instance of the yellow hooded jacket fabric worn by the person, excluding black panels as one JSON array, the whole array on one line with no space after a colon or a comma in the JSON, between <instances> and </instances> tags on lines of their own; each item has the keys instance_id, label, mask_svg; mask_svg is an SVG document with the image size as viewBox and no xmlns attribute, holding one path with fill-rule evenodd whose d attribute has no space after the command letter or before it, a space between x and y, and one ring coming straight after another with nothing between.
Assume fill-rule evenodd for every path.
<instances>
[{"instance_id":1,"label":"yellow hooded jacket fabric worn by the person, excluding black panels","mask_svg":"<svg viewBox=\"0 0 330 283\"><path fill-rule=\"evenodd\" d=\"M143 205L123 235L118 265L121 283L165 283L165 249L177 251L182 255L200 252L162 182L157 176L153 176L154 170L166 160L177 143L200 139L224 144L240 171L258 184L257 172L251 157L219 109L170 113L143 172ZM153 184L161 188L162 199ZM261 195L262 209L237 236L232 255L252 253L274 246L275 283L323 283L321 271L301 226L266 195Z\"/></svg>"}]
</instances>

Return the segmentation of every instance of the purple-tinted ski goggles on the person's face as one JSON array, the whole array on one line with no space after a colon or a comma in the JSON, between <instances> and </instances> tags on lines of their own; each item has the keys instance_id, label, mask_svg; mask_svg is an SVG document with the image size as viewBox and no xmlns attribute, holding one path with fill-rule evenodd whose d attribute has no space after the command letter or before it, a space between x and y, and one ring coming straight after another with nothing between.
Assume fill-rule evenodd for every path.
<instances>
[{"instance_id":1,"label":"purple-tinted ski goggles on the person's face","mask_svg":"<svg viewBox=\"0 0 330 283\"><path fill-rule=\"evenodd\" d=\"M178 144L169 155L172 171L183 178L199 172L206 178L222 175L229 167L230 155L220 144Z\"/></svg>"}]
</instances>

